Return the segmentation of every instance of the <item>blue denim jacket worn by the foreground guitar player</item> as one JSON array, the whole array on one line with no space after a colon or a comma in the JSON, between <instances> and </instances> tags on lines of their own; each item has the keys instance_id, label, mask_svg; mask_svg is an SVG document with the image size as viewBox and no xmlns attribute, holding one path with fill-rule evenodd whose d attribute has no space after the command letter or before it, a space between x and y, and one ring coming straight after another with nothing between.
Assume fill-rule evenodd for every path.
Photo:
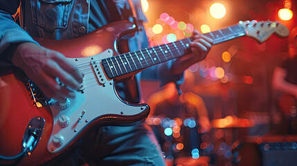
<instances>
[{"instance_id":1,"label":"blue denim jacket worn by the foreground guitar player","mask_svg":"<svg viewBox=\"0 0 297 166\"><path fill-rule=\"evenodd\" d=\"M22 42L36 43L32 37L46 39L73 39L89 32L90 3L93 0L21 0L19 25L11 15L15 14L19 6L18 0L1 0L0 2L0 58L11 45ZM115 6L104 11L102 17L109 18L114 12L120 12L127 7L125 0L94 0L98 3L114 3ZM140 1L134 0L134 6L139 21L146 21L141 10ZM94 5L95 3L92 3ZM126 5L125 5L126 4ZM106 7L107 8L107 7ZM102 11L103 12L103 11ZM108 13L109 12L109 13ZM123 15L123 13L119 13ZM116 16L114 16L116 17ZM112 20L108 20L110 22ZM36 43L37 44L37 43ZM144 30L129 39L131 51L147 47ZM172 61L152 66L141 73L147 80L161 80L161 84L175 81L183 82L182 75L170 72ZM139 81L140 76L136 79Z\"/></svg>"}]
</instances>

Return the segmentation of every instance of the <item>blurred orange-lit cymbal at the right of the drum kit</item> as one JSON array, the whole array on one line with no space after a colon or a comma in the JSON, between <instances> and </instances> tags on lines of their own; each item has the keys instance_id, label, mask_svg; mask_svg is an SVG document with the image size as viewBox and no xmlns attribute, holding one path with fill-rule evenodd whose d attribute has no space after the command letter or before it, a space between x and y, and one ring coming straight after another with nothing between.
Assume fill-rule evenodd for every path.
<instances>
[{"instance_id":1,"label":"blurred orange-lit cymbal at the right of the drum kit","mask_svg":"<svg viewBox=\"0 0 297 166\"><path fill-rule=\"evenodd\" d=\"M237 116L226 116L225 118L215 119L211 122L211 127L213 128L242 128L254 126L253 120L237 118Z\"/></svg>"}]
</instances>

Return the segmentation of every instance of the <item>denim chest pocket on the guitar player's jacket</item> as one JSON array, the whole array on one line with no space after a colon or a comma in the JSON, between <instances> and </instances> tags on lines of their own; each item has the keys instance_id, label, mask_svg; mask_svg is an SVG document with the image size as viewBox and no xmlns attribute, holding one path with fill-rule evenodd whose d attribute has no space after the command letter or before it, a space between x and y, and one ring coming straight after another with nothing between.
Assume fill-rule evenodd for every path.
<instances>
[{"instance_id":1,"label":"denim chest pocket on the guitar player's jacket","mask_svg":"<svg viewBox=\"0 0 297 166\"><path fill-rule=\"evenodd\" d=\"M71 11L72 0L31 0L33 23L53 31L66 28Z\"/></svg>"}]
</instances>

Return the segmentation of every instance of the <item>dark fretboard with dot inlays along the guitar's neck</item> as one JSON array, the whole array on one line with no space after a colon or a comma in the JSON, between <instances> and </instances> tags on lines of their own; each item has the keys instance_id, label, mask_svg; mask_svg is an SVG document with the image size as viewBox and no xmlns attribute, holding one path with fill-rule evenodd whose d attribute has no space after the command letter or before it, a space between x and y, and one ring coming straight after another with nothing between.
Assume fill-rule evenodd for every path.
<instances>
[{"instance_id":1,"label":"dark fretboard with dot inlays along the guitar's neck","mask_svg":"<svg viewBox=\"0 0 297 166\"><path fill-rule=\"evenodd\" d=\"M226 42L246 35L240 25L230 26L221 30L205 33L213 39L214 44ZM102 65L109 78L118 77L127 73L141 71L144 68L167 62L171 59L191 53L190 42L192 37L178 40L169 44L163 44L142 50L136 50L107 59L102 59Z\"/></svg>"}]
</instances>

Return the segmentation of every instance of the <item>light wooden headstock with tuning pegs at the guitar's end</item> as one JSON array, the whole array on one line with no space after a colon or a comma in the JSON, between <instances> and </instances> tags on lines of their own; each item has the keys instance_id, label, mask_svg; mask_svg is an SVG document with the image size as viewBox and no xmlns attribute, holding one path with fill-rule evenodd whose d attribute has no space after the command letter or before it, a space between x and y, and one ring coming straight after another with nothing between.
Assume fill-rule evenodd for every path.
<instances>
[{"instance_id":1,"label":"light wooden headstock with tuning pegs at the guitar's end","mask_svg":"<svg viewBox=\"0 0 297 166\"><path fill-rule=\"evenodd\" d=\"M258 39L259 42L266 41L273 33L279 37L288 37L289 29L278 21L240 21L240 26L246 31L246 36Z\"/></svg>"}]
</instances>

